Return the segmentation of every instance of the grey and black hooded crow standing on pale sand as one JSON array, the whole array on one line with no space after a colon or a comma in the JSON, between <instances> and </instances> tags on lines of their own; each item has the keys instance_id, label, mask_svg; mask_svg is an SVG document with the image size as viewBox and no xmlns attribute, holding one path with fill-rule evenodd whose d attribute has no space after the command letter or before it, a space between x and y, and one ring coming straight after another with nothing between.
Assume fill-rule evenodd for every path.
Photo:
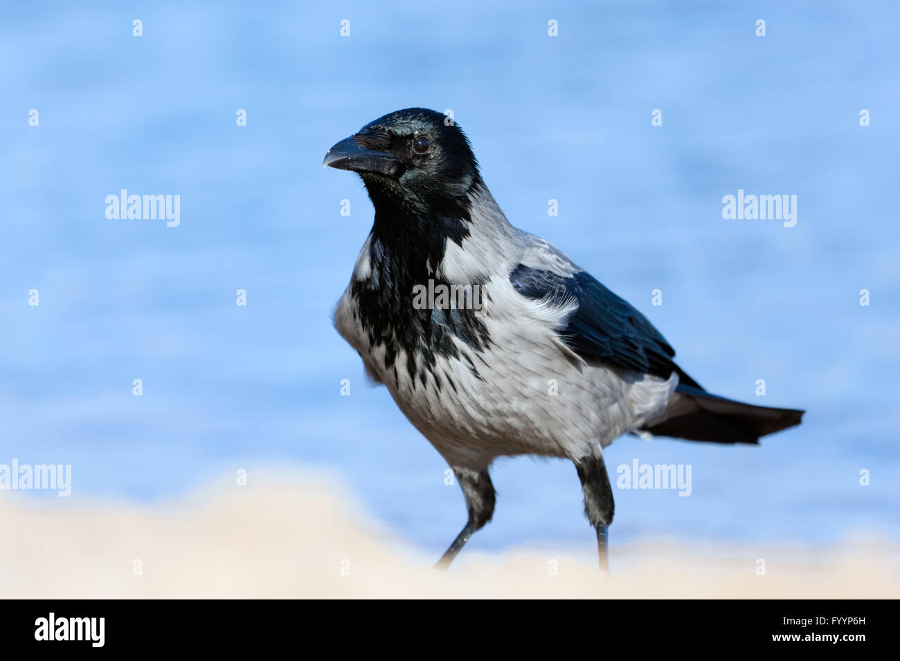
<instances>
[{"instance_id":1,"label":"grey and black hooded crow standing on pale sand","mask_svg":"<svg viewBox=\"0 0 900 661\"><path fill-rule=\"evenodd\" d=\"M603 449L618 436L756 443L800 423L708 393L647 317L514 228L444 114L384 115L322 165L359 174L375 209L335 326L463 489L469 518L438 567L491 520L498 457L572 460L608 568Z\"/></svg>"}]
</instances>

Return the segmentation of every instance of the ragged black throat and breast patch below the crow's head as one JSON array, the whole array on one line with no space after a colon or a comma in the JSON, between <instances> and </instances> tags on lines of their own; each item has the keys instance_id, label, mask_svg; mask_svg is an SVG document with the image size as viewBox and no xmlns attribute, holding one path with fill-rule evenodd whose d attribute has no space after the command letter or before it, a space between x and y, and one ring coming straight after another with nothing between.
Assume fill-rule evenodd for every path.
<instances>
[{"instance_id":1,"label":"ragged black throat and breast patch below the crow's head","mask_svg":"<svg viewBox=\"0 0 900 661\"><path fill-rule=\"evenodd\" d=\"M381 179L379 177L379 179ZM416 308L414 288L451 284L479 285L483 281L448 282L437 277L438 266L445 257L448 241L462 246L470 236L471 201L462 195L428 196L428 203L410 200L383 181L370 181L364 175L366 188L375 207L375 220L369 237L371 271L364 280L354 278L351 295L356 301L359 321L372 347L383 345L384 362L397 381L397 360L406 354L401 365L410 380L424 387L430 373L438 390L446 384L456 389L449 374L435 369L437 356L459 358L478 377L475 365L460 355L454 338L481 352L490 343L490 334L482 317L472 308ZM469 187L480 183L478 177ZM480 378L480 377L479 377Z\"/></svg>"}]
</instances>

